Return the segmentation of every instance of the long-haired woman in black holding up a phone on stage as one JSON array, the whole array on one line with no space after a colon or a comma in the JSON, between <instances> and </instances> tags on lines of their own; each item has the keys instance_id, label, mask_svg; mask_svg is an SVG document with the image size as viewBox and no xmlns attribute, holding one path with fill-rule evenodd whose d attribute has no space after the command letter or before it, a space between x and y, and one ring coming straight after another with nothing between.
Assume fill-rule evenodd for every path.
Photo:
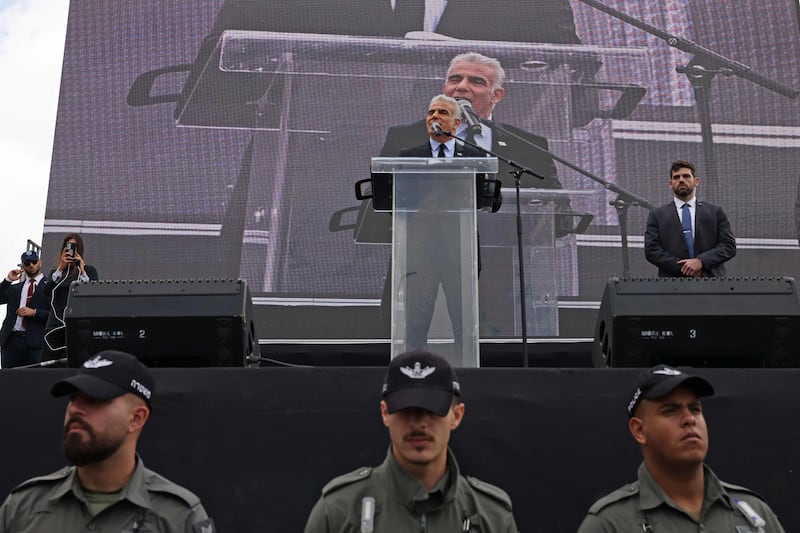
<instances>
[{"instance_id":1,"label":"long-haired woman in black holding up a phone on stage","mask_svg":"<svg viewBox=\"0 0 800 533\"><path fill-rule=\"evenodd\" d=\"M66 324L64 312L69 298L69 286L73 281L97 280L97 269L87 265L83 260L83 238L77 233L70 233L61 243L61 254L58 266L50 271L48 298L50 300L50 316L44 327L41 361L50 361L66 357Z\"/></svg>"}]
</instances>

